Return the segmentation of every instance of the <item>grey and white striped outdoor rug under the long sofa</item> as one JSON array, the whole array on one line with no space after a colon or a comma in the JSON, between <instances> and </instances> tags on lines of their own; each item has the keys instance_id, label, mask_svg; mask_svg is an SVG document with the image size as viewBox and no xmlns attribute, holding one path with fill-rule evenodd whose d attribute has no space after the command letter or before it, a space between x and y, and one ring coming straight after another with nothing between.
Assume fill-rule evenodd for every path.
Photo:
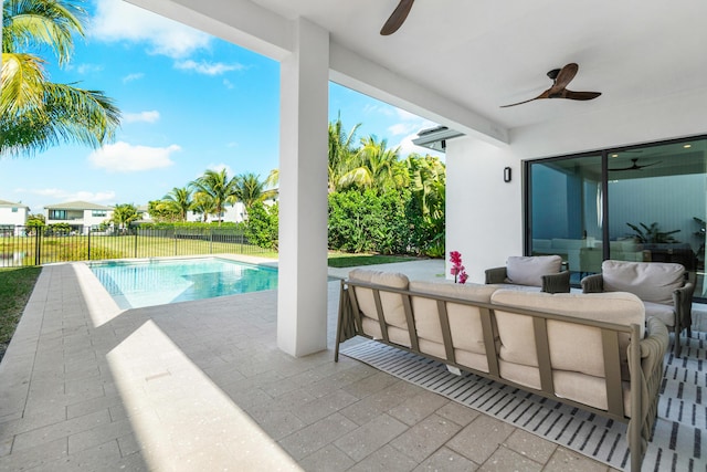
<instances>
[{"instance_id":1,"label":"grey and white striped outdoor rug under the long sofa","mask_svg":"<svg viewBox=\"0 0 707 472\"><path fill-rule=\"evenodd\" d=\"M685 339L685 338L683 338ZM665 356L658 420L643 471L707 471L707 333L693 332L683 357ZM365 342L341 354L509 422L615 469L627 470L626 424L528 394L483 377L456 376L437 361L381 343Z\"/></svg>"}]
</instances>

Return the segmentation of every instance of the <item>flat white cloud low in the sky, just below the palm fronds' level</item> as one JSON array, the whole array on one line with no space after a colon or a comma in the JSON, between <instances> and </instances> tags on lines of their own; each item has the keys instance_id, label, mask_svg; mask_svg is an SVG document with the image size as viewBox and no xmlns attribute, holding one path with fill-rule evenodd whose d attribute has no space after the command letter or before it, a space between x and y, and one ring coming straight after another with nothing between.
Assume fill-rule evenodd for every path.
<instances>
[{"instance_id":1,"label":"flat white cloud low in the sky, just below the palm fronds' level","mask_svg":"<svg viewBox=\"0 0 707 472\"><path fill-rule=\"evenodd\" d=\"M171 166L175 162L170 155L178 150L181 148L177 145L149 147L118 141L91 153L88 161L109 172L139 172Z\"/></svg>"}]
</instances>

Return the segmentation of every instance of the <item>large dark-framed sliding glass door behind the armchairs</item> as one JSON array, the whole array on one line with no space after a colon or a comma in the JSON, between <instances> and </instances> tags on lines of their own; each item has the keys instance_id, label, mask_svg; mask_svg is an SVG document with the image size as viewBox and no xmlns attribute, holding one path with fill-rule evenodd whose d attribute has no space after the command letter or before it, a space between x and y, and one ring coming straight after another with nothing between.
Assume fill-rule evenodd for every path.
<instances>
[{"instance_id":1,"label":"large dark-framed sliding glass door behind the armchairs","mask_svg":"<svg viewBox=\"0 0 707 472\"><path fill-rule=\"evenodd\" d=\"M605 259L677 262L707 297L707 138L526 161L528 254L559 254L572 282Z\"/></svg>"}]
</instances>

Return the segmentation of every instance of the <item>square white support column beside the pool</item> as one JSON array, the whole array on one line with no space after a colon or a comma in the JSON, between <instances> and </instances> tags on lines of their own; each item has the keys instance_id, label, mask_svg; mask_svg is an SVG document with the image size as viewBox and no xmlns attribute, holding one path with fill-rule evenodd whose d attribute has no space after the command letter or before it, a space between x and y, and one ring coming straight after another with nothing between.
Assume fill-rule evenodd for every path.
<instances>
[{"instance_id":1,"label":"square white support column beside the pool","mask_svg":"<svg viewBox=\"0 0 707 472\"><path fill-rule=\"evenodd\" d=\"M281 62L277 345L299 357L327 347L329 34L298 19Z\"/></svg>"}]
</instances>

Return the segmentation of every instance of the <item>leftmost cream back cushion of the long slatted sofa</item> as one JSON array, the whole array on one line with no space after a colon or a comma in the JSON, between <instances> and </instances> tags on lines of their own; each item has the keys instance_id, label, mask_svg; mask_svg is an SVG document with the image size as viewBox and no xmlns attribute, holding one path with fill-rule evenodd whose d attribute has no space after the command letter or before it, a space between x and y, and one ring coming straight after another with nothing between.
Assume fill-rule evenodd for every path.
<instances>
[{"instance_id":1,"label":"leftmost cream back cushion of the long slatted sofa","mask_svg":"<svg viewBox=\"0 0 707 472\"><path fill-rule=\"evenodd\" d=\"M349 272L349 280L367 282L370 284L389 286L392 289L408 290L410 281L408 276L394 272L369 271L365 269L355 269ZM370 289L355 287L356 301L358 307L365 316L378 321L378 311L376 310L376 300L373 291ZM390 292L380 293L380 303L383 308L383 317L389 325L407 329L408 321L405 318L405 308L403 306L402 295Z\"/></svg>"}]
</instances>

